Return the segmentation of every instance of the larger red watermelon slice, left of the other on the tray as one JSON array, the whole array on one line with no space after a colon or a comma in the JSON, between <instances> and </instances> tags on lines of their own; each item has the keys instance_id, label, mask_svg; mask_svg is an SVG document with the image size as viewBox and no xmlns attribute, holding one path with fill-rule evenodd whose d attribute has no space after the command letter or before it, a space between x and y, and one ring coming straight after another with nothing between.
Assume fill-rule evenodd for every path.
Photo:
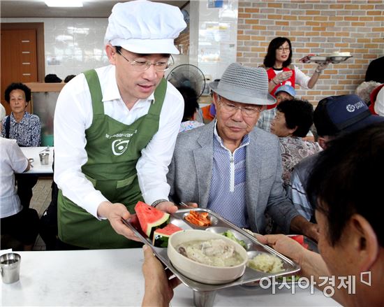
<instances>
[{"instance_id":1,"label":"larger red watermelon slice, left of the other on the tray","mask_svg":"<svg viewBox=\"0 0 384 307\"><path fill-rule=\"evenodd\" d=\"M164 227L169 222L170 215L139 201L135 206L140 227L148 238L152 238L155 229Z\"/></svg>"}]
</instances>

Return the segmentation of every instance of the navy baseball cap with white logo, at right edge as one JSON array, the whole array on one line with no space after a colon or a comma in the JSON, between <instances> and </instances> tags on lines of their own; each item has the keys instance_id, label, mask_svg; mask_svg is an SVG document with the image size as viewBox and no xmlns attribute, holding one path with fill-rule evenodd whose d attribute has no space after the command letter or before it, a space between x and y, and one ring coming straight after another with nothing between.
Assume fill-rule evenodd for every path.
<instances>
[{"instance_id":1,"label":"navy baseball cap with white logo, at right edge","mask_svg":"<svg viewBox=\"0 0 384 307\"><path fill-rule=\"evenodd\" d=\"M372 115L367 104L357 95L330 96L318 102L313 113L319 136L335 136L384 122L384 117Z\"/></svg>"}]
</instances>

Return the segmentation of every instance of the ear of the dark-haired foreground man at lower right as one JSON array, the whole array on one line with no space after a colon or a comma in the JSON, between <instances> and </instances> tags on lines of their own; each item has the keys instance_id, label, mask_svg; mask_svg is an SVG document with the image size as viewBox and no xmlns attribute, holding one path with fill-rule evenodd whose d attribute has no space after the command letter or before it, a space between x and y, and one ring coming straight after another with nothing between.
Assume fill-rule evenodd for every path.
<instances>
[{"instance_id":1,"label":"ear of the dark-haired foreground man at lower right","mask_svg":"<svg viewBox=\"0 0 384 307\"><path fill-rule=\"evenodd\" d=\"M357 269L360 272L369 271L376 259L380 248L378 239L371 224L360 214L354 214L348 222L350 243L353 244L351 252L355 253Z\"/></svg>"}]
</instances>

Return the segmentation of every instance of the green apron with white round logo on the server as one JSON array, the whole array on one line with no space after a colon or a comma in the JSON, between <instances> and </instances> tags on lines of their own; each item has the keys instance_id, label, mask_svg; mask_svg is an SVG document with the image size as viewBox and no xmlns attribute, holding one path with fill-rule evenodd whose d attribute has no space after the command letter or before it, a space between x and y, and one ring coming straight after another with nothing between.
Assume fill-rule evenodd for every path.
<instances>
[{"instance_id":1,"label":"green apron with white round logo on the server","mask_svg":"<svg viewBox=\"0 0 384 307\"><path fill-rule=\"evenodd\" d=\"M104 114L102 92L96 71L84 72L91 92L94 118L85 131L87 163L82 173L96 190L112 203L121 203L130 213L138 201L143 201L138 183L136 164L141 150L158 131L158 120L167 89L165 79L154 92L147 115L133 124L123 124ZM64 197L58 198L59 238L67 244L82 248L134 248L141 243L128 240L115 232L108 220L97 220L86 210Z\"/></svg>"}]
</instances>

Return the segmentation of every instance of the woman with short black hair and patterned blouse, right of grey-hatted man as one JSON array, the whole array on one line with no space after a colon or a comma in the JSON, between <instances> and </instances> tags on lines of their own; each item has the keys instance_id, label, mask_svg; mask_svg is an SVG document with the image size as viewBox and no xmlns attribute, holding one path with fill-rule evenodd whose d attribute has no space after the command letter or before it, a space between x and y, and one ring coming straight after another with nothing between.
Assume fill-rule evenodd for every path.
<instances>
[{"instance_id":1,"label":"woman with short black hair and patterned blouse, right of grey-hatted man","mask_svg":"<svg viewBox=\"0 0 384 307\"><path fill-rule=\"evenodd\" d=\"M313 106L304 100L284 100L276 106L271 132L279 136L283 182L288 185L293 166L321 150L318 143L303 141L313 124Z\"/></svg>"}]
</instances>

